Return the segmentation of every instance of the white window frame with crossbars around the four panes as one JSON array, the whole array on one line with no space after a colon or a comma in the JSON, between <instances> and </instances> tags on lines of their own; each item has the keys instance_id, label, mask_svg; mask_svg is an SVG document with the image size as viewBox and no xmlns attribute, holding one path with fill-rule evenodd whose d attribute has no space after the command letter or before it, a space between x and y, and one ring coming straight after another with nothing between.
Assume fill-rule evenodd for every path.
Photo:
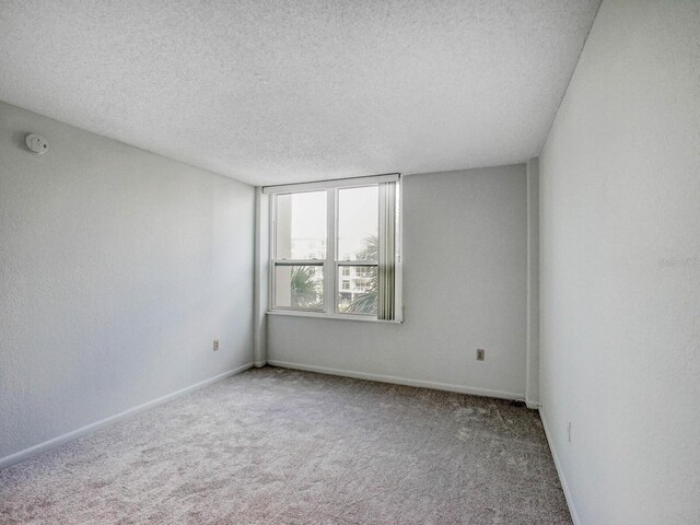
<instances>
[{"instance_id":1,"label":"white window frame with crossbars around the four panes","mask_svg":"<svg viewBox=\"0 0 700 525\"><path fill-rule=\"evenodd\" d=\"M395 318L392 320L378 319L376 315L372 314L358 314L358 313L339 313L338 308L338 283L342 281L340 276L340 269L342 267L378 267L378 261L366 260L339 260L337 254L337 241L338 241L338 195L340 189L353 188L353 187L368 187L377 186L383 182L397 183L397 211L398 219L395 223L395 237L398 244L396 260L395 260ZM277 197L279 195L300 194L307 191L326 191L326 257L325 259L278 259L276 256L277 249ZM401 304L402 299L402 185L400 184L400 177L398 174L380 175L372 177L357 177L351 179L329 180L319 183L307 183L296 185L272 186L262 188L264 194L270 194L269 206L269 285L268 285L268 314L276 315L293 315L303 317L327 317L335 319L351 319L351 320L369 320L375 323L402 323L404 308ZM322 310L305 310L305 308L291 308L275 305L276 296L276 276L275 270L277 266L323 266L324 282L323 282L323 308Z\"/></svg>"}]
</instances>

